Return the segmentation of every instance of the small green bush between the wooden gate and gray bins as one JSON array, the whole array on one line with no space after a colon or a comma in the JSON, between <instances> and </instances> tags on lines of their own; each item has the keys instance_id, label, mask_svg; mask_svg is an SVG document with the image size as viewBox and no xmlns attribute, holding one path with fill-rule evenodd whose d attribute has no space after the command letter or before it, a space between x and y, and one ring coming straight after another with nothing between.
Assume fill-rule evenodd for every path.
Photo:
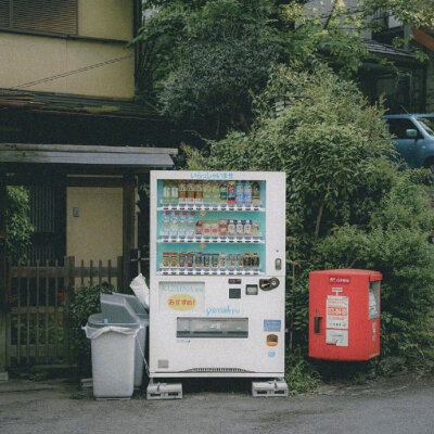
<instances>
[{"instance_id":1,"label":"small green bush between the wooden gate and gray bins","mask_svg":"<svg viewBox=\"0 0 434 434\"><path fill-rule=\"evenodd\" d=\"M84 330L88 318L101 311L100 294L110 294L114 288L108 284L81 285L74 289L74 298L66 303L71 316L72 346L81 376L92 375L90 340Z\"/></svg>"}]
</instances>

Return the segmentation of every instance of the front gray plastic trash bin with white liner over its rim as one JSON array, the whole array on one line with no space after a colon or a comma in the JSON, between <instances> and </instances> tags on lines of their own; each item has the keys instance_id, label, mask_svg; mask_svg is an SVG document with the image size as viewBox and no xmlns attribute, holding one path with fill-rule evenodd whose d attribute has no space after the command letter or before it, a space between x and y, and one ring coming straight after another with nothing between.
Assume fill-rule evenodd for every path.
<instances>
[{"instance_id":1,"label":"front gray plastic trash bin with white liner over its rim","mask_svg":"<svg viewBox=\"0 0 434 434\"><path fill-rule=\"evenodd\" d=\"M108 322L103 314L88 318L85 331L91 340L93 396L130 398L135 383L136 336L140 321Z\"/></svg>"}]
</instances>

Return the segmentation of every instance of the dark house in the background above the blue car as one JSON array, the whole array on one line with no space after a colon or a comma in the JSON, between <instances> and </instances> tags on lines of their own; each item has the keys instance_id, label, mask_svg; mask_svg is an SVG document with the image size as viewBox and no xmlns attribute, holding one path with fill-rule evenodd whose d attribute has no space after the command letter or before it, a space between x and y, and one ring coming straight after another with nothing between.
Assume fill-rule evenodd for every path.
<instances>
[{"instance_id":1,"label":"dark house in the background above the blue car","mask_svg":"<svg viewBox=\"0 0 434 434\"><path fill-rule=\"evenodd\" d=\"M324 16L330 14L333 0L310 0L308 8ZM350 14L360 0L347 0L345 7ZM371 58L363 62L358 80L363 93L371 102L385 97L390 113L423 113L434 111L434 30L416 29L396 20L387 10L379 10L370 18L376 31L365 30L360 37ZM420 62L409 47L394 47L394 38L412 38L411 44L424 51L427 62ZM391 67L383 61L392 62Z\"/></svg>"}]
</instances>

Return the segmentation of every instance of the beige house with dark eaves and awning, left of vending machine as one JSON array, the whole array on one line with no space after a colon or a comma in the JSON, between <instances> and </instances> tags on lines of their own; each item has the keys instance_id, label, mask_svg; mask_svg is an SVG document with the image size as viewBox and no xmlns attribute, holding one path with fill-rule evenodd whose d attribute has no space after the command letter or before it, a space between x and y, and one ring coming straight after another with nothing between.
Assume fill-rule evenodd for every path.
<instances>
[{"instance_id":1,"label":"beige house with dark eaves and awning, left of vending machine","mask_svg":"<svg viewBox=\"0 0 434 434\"><path fill-rule=\"evenodd\" d=\"M69 267L67 279L64 257L82 261L88 278L91 261L95 275L104 267L112 277L107 264L120 258L112 281L128 284L138 221L148 221L138 184L177 153L167 148L170 126L133 101L138 53L129 42L141 13L140 0L0 2L0 372L11 360L50 360L58 293L80 276ZM29 188L36 233L29 267L8 269L4 189L13 184Z\"/></svg>"}]
</instances>

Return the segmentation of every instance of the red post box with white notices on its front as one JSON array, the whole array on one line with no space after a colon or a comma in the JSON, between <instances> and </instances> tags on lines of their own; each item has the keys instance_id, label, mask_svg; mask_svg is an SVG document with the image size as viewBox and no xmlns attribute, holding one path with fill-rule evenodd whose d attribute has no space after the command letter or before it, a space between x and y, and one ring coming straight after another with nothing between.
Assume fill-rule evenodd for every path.
<instances>
[{"instance_id":1,"label":"red post box with white notices on its front","mask_svg":"<svg viewBox=\"0 0 434 434\"><path fill-rule=\"evenodd\" d=\"M309 357L369 360L380 355L380 282L370 270L309 275Z\"/></svg>"}]
</instances>

